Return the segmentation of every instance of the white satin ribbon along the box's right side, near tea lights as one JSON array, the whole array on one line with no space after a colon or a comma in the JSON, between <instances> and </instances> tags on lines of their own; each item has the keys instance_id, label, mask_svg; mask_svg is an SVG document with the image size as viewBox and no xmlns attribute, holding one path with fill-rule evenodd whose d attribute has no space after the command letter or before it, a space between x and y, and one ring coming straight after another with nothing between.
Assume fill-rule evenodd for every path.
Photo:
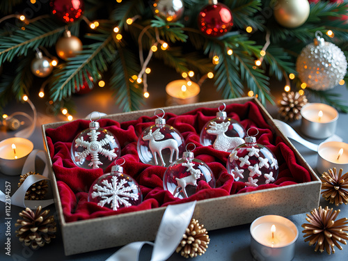
<instances>
[{"instance_id":1,"label":"white satin ribbon along the box's right side, near tea lights","mask_svg":"<svg viewBox=\"0 0 348 261\"><path fill-rule=\"evenodd\" d=\"M310 141L306 141L303 139L297 132L290 127L287 123L281 121L281 120L275 120L274 123L277 125L277 127L283 132L287 138L293 139L294 141L297 141L298 143L301 143L303 146L307 147L310 150L313 150L315 152L318 151L318 145L315 143L311 143ZM326 139L324 142L327 141L342 141L342 138L340 136L337 136L336 134L333 134L333 136Z\"/></svg>"}]
</instances>

